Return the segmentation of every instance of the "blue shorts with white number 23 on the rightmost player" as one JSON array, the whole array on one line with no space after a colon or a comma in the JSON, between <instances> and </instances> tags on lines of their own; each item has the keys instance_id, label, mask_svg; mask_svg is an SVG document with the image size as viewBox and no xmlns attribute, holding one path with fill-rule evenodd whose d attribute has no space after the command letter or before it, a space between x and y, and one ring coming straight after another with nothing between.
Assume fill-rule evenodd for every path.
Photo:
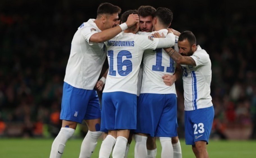
<instances>
[{"instance_id":1,"label":"blue shorts with white number 23 on the rightmost player","mask_svg":"<svg viewBox=\"0 0 256 158\"><path fill-rule=\"evenodd\" d=\"M208 144L214 118L213 106L185 111L185 140L186 145L205 141Z\"/></svg>"}]
</instances>

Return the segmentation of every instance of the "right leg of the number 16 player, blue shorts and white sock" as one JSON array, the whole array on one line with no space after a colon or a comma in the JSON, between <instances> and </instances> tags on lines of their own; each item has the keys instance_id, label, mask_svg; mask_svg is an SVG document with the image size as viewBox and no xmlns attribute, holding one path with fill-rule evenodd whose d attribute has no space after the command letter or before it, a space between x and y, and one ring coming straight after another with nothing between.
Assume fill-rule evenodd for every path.
<instances>
[{"instance_id":1,"label":"right leg of the number 16 player, blue shorts and white sock","mask_svg":"<svg viewBox=\"0 0 256 158\"><path fill-rule=\"evenodd\" d=\"M130 129L136 129L137 96L125 92L114 92L116 108L115 129L117 131L116 144L113 149L113 158L125 156Z\"/></svg>"}]
</instances>

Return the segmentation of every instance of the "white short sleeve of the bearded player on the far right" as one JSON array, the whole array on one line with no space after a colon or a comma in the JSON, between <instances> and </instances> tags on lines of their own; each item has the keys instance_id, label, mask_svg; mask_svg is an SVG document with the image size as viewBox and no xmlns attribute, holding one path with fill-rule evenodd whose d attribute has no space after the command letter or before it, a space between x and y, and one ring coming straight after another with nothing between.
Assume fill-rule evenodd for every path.
<instances>
[{"instance_id":1,"label":"white short sleeve of the bearded player on the far right","mask_svg":"<svg viewBox=\"0 0 256 158\"><path fill-rule=\"evenodd\" d=\"M199 51L195 51L195 53L190 57L195 60L195 63L196 63L195 67L206 65L210 61L209 55L203 49Z\"/></svg>"}]
</instances>

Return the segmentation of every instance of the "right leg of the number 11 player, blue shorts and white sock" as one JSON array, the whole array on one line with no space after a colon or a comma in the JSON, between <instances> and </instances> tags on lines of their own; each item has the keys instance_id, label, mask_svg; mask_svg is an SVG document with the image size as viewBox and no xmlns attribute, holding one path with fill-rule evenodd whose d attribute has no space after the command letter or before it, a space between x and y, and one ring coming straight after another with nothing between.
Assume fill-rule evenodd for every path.
<instances>
[{"instance_id":1,"label":"right leg of the number 11 player, blue shorts and white sock","mask_svg":"<svg viewBox=\"0 0 256 158\"><path fill-rule=\"evenodd\" d=\"M164 94L164 108L158 122L156 136L162 146L161 157L173 157L172 138L177 136L177 98L175 94Z\"/></svg>"}]
</instances>

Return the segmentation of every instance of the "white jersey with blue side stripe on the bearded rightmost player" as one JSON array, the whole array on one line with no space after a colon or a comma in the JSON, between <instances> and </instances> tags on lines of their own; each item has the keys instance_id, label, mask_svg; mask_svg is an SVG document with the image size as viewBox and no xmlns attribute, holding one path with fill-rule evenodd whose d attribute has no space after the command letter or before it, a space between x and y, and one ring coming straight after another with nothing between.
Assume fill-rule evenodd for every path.
<instances>
[{"instance_id":1,"label":"white jersey with blue side stripe on the bearded rightmost player","mask_svg":"<svg viewBox=\"0 0 256 158\"><path fill-rule=\"evenodd\" d=\"M181 65L183 69L183 88L185 110L196 110L212 106L210 95L212 70L211 60L207 52L199 45L190 56L195 60L196 66Z\"/></svg>"}]
</instances>

